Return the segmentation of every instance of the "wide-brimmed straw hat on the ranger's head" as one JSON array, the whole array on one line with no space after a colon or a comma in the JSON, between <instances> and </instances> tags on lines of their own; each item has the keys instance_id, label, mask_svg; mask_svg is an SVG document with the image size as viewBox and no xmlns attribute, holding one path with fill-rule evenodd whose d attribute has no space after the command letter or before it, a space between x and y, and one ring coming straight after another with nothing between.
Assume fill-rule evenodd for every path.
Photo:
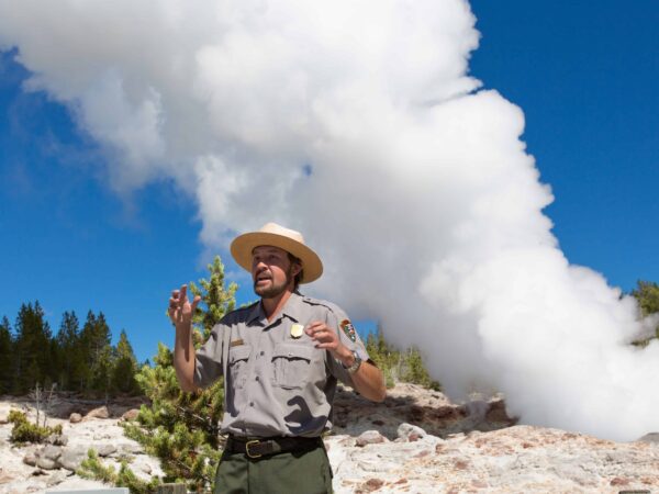
<instances>
[{"instance_id":1,"label":"wide-brimmed straw hat on the ranger's head","mask_svg":"<svg viewBox=\"0 0 659 494\"><path fill-rule=\"evenodd\" d=\"M304 244L302 234L277 223L266 223L258 232L238 235L231 243L231 255L238 266L252 272L252 252L261 245L279 247L300 259L303 270L300 283L311 283L323 274L321 258Z\"/></svg>"}]
</instances>

